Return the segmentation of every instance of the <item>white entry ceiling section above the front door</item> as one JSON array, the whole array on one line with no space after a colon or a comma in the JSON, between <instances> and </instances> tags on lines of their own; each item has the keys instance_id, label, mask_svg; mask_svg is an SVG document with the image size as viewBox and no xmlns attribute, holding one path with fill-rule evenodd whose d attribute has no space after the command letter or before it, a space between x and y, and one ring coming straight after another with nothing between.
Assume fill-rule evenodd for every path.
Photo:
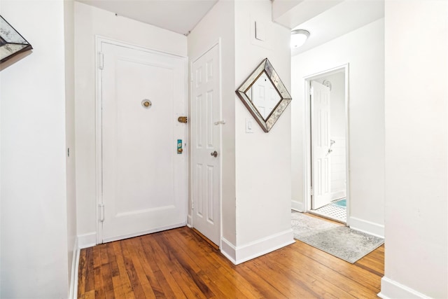
<instances>
[{"instance_id":1,"label":"white entry ceiling section above the front door","mask_svg":"<svg viewBox=\"0 0 448 299\"><path fill-rule=\"evenodd\" d=\"M76 0L123 17L188 35L218 0Z\"/></svg>"}]
</instances>

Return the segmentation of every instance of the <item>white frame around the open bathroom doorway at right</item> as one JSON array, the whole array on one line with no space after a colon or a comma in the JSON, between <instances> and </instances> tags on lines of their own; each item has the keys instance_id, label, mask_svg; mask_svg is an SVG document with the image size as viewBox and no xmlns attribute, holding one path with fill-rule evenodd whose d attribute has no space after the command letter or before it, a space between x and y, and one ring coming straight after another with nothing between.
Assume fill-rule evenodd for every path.
<instances>
[{"instance_id":1,"label":"white frame around the open bathroom doorway at right","mask_svg":"<svg viewBox=\"0 0 448 299\"><path fill-rule=\"evenodd\" d=\"M304 212L311 210L311 81L335 74L339 71L344 71L344 102L345 102L345 181L346 181L346 226L349 226L350 219L350 134L349 134L349 64L343 64L339 67L333 67L332 69L326 69L325 71L319 71L316 74L311 74L304 77L304 134L303 134L303 153L304 153Z\"/></svg>"}]
</instances>

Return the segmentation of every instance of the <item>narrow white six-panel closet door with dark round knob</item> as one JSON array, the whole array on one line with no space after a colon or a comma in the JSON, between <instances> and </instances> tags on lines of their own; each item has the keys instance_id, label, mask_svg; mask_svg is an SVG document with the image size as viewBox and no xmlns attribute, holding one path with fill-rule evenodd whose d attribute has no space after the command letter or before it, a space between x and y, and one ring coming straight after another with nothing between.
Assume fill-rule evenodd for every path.
<instances>
[{"instance_id":1,"label":"narrow white six-panel closet door with dark round knob","mask_svg":"<svg viewBox=\"0 0 448 299\"><path fill-rule=\"evenodd\" d=\"M193 227L221 239L221 90L218 45L192 64Z\"/></svg>"}]
</instances>

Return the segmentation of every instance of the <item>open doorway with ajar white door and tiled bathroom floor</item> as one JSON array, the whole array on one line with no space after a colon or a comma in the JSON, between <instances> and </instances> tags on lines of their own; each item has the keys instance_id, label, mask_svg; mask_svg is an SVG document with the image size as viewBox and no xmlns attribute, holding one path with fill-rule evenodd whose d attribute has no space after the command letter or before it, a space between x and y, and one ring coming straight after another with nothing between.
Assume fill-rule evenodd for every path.
<instances>
[{"instance_id":1,"label":"open doorway with ajar white door and tiled bathroom floor","mask_svg":"<svg viewBox=\"0 0 448 299\"><path fill-rule=\"evenodd\" d=\"M346 223L349 207L348 66L306 78L308 211Z\"/></svg>"}]
</instances>

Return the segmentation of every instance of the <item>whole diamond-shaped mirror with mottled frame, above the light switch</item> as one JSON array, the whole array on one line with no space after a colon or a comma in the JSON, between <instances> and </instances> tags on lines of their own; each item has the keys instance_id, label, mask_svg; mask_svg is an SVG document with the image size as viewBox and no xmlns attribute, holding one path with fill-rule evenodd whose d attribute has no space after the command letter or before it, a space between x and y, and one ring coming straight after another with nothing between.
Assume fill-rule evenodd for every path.
<instances>
[{"instance_id":1,"label":"whole diamond-shaped mirror with mottled frame, above the light switch","mask_svg":"<svg viewBox=\"0 0 448 299\"><path fill-rule=\"evenodd\" d=\"M236 90L263 131L269 132L291 102L291 96L272 64L263 60Z\"/></svg>"}]
</instances>

